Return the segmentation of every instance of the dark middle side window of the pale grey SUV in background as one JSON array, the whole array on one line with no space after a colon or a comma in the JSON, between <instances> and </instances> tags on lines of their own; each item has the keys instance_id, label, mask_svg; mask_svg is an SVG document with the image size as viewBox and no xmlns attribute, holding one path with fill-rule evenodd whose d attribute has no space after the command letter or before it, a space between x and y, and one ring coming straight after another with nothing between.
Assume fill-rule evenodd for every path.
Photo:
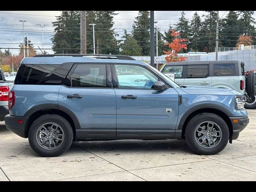
<instances>
[{"instance_id":1,"label":"dark middle side window of the pale grey SUV in background","mask_svg":"<svg viewBox=\"0 0 256 192\"><path fill-rule=\"evenodd\" d=\"M187 78L208 77L208 65L188 65Z\"/></svg>"}]
</instances>

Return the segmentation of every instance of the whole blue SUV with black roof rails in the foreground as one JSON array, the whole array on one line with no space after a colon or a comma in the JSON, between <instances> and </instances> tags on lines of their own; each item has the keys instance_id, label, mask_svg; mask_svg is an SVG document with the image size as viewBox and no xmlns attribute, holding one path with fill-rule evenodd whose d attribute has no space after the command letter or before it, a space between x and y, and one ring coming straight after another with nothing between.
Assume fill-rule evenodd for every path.
<instances>
[{"instance_id":1,"label":"whole blue SUV with black roof rails in the foreground","mask_svg":"<svg viewBox=\"0 0 256 192\"><path fill-rule=\"evenodd\" d=\"M73 141L180 138L210 155L249 123L239 92L181 87L128 56L24 58L8 102L6 127L45 157Z\"/></svg>"}]
</instances>

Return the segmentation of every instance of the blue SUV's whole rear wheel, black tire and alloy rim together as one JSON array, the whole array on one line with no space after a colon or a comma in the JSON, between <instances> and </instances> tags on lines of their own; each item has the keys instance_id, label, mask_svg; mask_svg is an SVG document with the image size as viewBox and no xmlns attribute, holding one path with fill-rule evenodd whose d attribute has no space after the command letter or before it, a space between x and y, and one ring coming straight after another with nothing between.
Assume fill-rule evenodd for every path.
<instances>
[{"instance_id":1,"label":"blue SUV's whole rear wheel, black tire and alloy rim together","mask_svg":"<svg viewBox=\"0 0 256 192\"><path fill-rule=\"evenodd\" d=\"M66 152L73 140L70 123L62 116L47 114L30 126L28 140L32 149L44 157L54 157Z\"/></svg>"}]
</instances>

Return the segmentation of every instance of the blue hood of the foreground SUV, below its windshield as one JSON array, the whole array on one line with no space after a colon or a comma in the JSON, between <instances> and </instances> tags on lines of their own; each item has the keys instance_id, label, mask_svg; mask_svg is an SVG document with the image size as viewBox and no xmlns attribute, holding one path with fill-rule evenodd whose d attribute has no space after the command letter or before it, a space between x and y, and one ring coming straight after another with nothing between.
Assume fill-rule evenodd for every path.
<instances>
[{"instance_id":1,"label":"blue hood of the foreground SUV, below its windshield","mask_svg":"<svg viewBox=\"0 0 256 192\"><path fill-rule=\"evenodd\" d=\"M228 96L240 96L241 93L232 89L215 88L206 86L187 86L182 90L188 94L200 94L200 95L228 95Z\"/></svg>"}]
</instances>

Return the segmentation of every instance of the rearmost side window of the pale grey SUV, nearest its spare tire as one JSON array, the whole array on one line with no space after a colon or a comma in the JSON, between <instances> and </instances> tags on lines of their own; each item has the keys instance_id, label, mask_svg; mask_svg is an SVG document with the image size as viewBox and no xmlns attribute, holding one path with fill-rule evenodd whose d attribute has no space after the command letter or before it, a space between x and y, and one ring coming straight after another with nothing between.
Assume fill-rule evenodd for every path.
<instances>
[{"instance_id":1,"label":"rearmost side window of the pale grey SUV, nearest its spare tire","mask_svg":"<svg viewBox=\"0 0 256 192\"><path fill-rule=\"evenodd\" d=\"M214 76L234 76L236 75L235 64L214 64Z\"/></svg>"}]
</instances>

